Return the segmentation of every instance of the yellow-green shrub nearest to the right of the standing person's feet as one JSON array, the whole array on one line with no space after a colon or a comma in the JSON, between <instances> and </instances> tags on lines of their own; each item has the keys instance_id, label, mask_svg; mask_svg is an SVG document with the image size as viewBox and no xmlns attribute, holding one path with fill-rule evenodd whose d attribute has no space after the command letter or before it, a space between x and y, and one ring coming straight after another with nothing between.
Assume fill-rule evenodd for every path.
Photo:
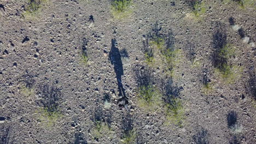
<instances>
[{"instance_id":1,"label":"yellow-green shrub nearest to the right of the standing person's feet","mask_svg":"<svg viewBox=\"0 0 256 144\"><path fill-rule=\"evenodd\" d=\"M138 102L146 110L156 110L161 103L160 93L152 85L141 86Z\"/></svg>"}]
</instances>

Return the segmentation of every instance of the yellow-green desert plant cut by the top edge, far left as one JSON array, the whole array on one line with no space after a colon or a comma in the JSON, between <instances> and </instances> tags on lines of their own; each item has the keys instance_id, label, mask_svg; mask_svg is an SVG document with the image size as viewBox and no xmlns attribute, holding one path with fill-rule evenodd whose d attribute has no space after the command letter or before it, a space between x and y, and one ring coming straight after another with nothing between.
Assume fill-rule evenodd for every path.
<instances>
[{"instance_id":1,"label":"yellow-green desert plant cut by the top edge, far left","mask_svg":"<svg viewBox=\"0 0 256 144\"><path fill-rule=\"evenodd\" d=\"M25 8L26 11L22 15L27 19L36 18L42 9L42 4L46 2L48 0L28 0L29 5Z\"/></svg>"}]
</instances>

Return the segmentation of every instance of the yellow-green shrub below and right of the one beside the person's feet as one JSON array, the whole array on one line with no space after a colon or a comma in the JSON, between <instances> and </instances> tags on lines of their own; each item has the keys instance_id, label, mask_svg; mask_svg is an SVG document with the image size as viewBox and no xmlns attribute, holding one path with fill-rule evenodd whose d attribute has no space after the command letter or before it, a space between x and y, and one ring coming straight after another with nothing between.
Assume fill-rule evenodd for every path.
<instances>
[{"instance_id":1,"label":"yellow-green shrub below and right of the one beside the person's feet","mask_svg":"<svg viewBox=\"0 0 256 144\"><path fill-rule=\"evenodd\" d=\"M182 105L182 100L172 98L165 106L166 109L166 124L174 123L178 127L183 127L185 119L185 110Z\"/></svg>"}]
</instances>

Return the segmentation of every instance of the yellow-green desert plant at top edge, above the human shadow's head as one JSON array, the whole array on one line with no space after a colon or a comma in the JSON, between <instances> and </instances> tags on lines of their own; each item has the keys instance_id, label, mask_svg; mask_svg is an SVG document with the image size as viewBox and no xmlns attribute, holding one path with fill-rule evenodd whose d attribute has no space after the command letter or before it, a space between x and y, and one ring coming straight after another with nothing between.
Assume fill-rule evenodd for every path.
<instances>
[{"instance_id":1,"label":"yellow-green desert plant at top edge, above the human shadow's head","mask_svg":"<svg viewBox=\"0 0 256 144\"><path fill-rule=\"evenodd\" d=\"M132 0L112 0L111 10L115 19L123 19L131 14Z\"/></svg>"}]
</instances>

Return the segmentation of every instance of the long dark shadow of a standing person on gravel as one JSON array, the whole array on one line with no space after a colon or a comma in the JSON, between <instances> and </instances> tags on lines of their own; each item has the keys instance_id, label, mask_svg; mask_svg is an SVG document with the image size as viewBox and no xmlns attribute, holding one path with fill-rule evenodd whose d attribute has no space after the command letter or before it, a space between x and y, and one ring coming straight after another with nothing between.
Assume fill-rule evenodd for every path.
<instances>
[{"instance_id":1,"label":"long dark shadow of a standing person on gravel","mask_svg":"<svg viewBox=\"0 0 256 144\"><path fill-rule=\"evenodd\" d=\"M128 104L128 98L125 95L125 89L121 80L121 76L124 75L123 63L121 60L121 54L116 47L117 40L111 40L111 50L109 52L109 60L112 65L114 65L115 75L118 82L118 92L119 92L119 102L118 106L124 107Z\"/></svg>"}]
</instances>

